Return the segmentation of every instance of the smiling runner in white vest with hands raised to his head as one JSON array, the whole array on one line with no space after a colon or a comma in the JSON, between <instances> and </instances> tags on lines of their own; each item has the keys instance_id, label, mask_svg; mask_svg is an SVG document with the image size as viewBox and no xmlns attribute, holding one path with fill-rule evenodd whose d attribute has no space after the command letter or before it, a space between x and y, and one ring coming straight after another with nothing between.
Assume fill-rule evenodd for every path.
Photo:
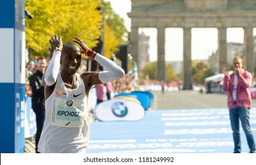
<instances>
[{"instance_id":1,"label":"smiling runner in white vest with hands raised to his head","mask_svg":"<svg viewBox=\"0 0 256 165\"><path fill-rule=\"evenodd\" d=\"M50 39L53 57L44 74L46 120L38 144L40 153L85 153L89 140L88 96L95 84L105 84L124 75L115 62L92 51L77 37L62 44L57 34ZM81 52L107 71L77 74ZM60 71L59 71L60 68Z\"/></svg>"}]
</instances>

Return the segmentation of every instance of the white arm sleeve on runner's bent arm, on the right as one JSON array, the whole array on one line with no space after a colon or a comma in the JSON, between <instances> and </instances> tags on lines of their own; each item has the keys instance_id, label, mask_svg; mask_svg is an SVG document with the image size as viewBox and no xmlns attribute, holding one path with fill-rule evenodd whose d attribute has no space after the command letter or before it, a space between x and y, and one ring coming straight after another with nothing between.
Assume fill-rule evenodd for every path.
<instances>
[{"instance_id":1,"label":"white arm sleeve on runner's bent arm, on the right","mask_svg":"<svg viewBox=\"0 0 256 165\"><path fill-rule=\"evenodd\" d=\"M114 61L109 60L103 55L97 53L94 60L99 62L99 64L101 64L104 68L106 68L106 70L108 70L99 72L99 80L101 80L103 84L121 78L125 74L124 70L121 67L119 67L117 64L115 64Z\"/></svg>"}]
</instances>

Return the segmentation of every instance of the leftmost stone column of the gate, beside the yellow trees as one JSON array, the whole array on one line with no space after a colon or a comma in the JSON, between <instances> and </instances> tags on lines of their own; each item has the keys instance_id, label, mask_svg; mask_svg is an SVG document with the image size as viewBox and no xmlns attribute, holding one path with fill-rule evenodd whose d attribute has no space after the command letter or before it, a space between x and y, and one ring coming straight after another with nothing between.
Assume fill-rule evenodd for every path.
<instances>
[{"instance_id":1,"label":"leftmost stone column of the gate, beside the yellow trees","mask_svg":"<svg viewBox=\"0 0 256 165\"><path fill-rule=\"evenodd\" d=\"M131 55L132 55L132 60L134 62L137 62L138 68L140 68L140 64L138 64L138 28L137 27L132 27L131 28L131 33L129 37L129 41L131 44Z\"/></svg>"}]
</instances>

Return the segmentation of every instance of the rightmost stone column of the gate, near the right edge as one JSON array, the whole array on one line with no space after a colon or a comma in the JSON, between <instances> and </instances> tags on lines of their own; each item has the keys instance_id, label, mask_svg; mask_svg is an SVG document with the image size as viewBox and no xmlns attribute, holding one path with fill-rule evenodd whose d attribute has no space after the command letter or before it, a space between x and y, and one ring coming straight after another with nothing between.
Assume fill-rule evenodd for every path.
<instances>
[{"instance_id":1,"label":"rightmost stone column of the gate, near the right edge","mask_svg":"<svg viewBox=\"0 0 256 165\"><path fill-rule=\"evenodd\" d=\"M254 72L254 37L253 28L244 28L244 68L253 74Z\"/></svg>"}]
</instances>

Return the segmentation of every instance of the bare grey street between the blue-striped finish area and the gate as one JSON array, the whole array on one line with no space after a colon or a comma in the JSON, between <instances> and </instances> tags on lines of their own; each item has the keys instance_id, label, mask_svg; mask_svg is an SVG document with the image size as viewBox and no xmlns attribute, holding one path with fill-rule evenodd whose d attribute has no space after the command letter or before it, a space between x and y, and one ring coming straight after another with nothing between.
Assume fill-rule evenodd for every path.
<instances>
[{"instance_id":1,"label":"bare grey street between the blue-striped finish area and the gate","mask_svg":"<svg viewBox=\"0 0 256 165\"><path fill-rule=\"evenodd\" d=\"M154 94L151 110L177 110L195 108L228 108L227 94L202 94L199 91L180 90L151 91ZM256 107L256 99L252 99L252 107Z\"/></svg>"}]
</instances>

